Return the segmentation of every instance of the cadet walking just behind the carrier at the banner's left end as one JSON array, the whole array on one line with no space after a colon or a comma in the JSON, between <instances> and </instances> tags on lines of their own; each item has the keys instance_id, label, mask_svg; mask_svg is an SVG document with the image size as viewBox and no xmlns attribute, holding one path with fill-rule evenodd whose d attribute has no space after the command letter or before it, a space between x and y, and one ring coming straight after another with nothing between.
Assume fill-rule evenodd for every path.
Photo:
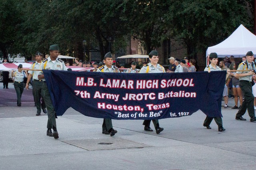
<instances>
[{"instance_id":1,"label":"cadet walking just behind the carrier at the banner's left end","mask_svg":"<svg viewBox=\"0 0 256 170\"><path fill-rule=\"evenodd\" d=\"M40 64L42 63L42 57L43 57L43 54L40 53L40 52L36 52L36 61L30 66L30 69L40 69ZM30 82L30 79L32 78L33 79L33 96L34 96L34 101L35 101L35 104L36 104L36 116L39 116L41 115L41 108L43 110L44 113L47 113L46 111L46 105L44 103L44 98L41 97L41 91L42 91L42 84L43 84L43 81L42 80L39 80L38 79L38 73L39 71L32 71L32 70L29 70L28 71L28 81L26 83L26 89L29 89L29 82ZM40 102L42 98L42 104Z\"/></svg>"}]
</instances>

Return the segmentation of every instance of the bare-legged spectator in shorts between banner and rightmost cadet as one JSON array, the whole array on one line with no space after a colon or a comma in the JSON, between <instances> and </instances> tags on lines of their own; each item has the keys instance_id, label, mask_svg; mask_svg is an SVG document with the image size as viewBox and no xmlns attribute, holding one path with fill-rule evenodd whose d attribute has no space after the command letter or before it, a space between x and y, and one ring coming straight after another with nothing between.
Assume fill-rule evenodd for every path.
<instances>
[{"instance_id":1,"label":"bare-legged spectator in shorts between banner and rightmost cadet","mask_svg":"<svg viewBox=\"0 0 256 170\"><path fill-rule=\"evenodd\" d=\"M238 67L238 62L235 62L232 67L233 70L236 70ZM239 87L239 79L235 77L236 72L231 72L230 73L232 77L232 86L233 86L233 94L234 94L234 100L235 100L235 106L232 107L231 109L240 109L242 103L243 103L243 95L242 95L242 90ZM239 96L239 101L240 101L240 106L238 107L238 96Z\"/></svg>"}]
</instances>

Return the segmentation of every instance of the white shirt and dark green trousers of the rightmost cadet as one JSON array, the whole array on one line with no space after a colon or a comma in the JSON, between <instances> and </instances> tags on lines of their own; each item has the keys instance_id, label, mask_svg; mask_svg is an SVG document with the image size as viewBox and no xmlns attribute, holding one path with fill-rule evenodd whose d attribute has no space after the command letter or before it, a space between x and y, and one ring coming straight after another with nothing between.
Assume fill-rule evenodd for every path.
<instances>
[{"instance_id":1,"label":"white shirt and dark green trousers of the rightmost cadet","mask_svg":"<svg viewBox=\"0 0 256 170\"><path fill-rule=\"evenodd\" d=\"M244 70L244 69L256 69L255 63L248 63L248 61L244 61L240 63L237 70ZM248 73L249 71L236 71L237 74L244 74ZM248 109L249 116L255 117L254 113L254 95L252 94L252 75L247 75L244 77L239 77L239 87L241 88L244 94L244 101L236 114L236 118L241 117L245 114L246 109Z\"/></svg>"}]
</instances>

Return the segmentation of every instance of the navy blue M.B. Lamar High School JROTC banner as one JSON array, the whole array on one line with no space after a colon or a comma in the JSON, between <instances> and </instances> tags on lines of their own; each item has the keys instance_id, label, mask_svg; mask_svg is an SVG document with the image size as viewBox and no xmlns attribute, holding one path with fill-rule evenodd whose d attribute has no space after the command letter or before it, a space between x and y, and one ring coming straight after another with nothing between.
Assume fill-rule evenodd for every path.
<instances>
[{"instance_id":1,"label":"navy blue M.B. Lamar High School JROTC banner","mask_svg":"<svg viewBox=\"0 0 256 170\"><path fill-rule=\"evenodd\" d=\"M56 114L72 107L110 119L165 119L199 109L222 117L226 71L208 73L101 73L43 70Z\"/></svg>"}]
</instances>

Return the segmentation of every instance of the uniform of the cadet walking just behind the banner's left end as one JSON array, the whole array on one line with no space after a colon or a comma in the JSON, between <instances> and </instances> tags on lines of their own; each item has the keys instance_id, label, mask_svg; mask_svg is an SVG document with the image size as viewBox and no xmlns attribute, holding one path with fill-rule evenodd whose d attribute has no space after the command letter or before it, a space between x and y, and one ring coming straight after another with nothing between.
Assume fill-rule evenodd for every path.
<instances>
[{"instance_id":1,"label":"uniform of the cadet walking just behind the banner's left end","mask_svg":"<svg viewBox=\"0 0 256 170\"><path fill-rule=\"evenodd\" d=\"M42 61L41 61L42 63ZM40 69L40 65L41 63L38 63L37 61L34 62L31 66L30 66L30 69ZM28 73L32 74L32 80L33 80L33 96L34 96L34 101L35 101L35 104L36 104L36 115L40 115L41 114L41 107L42 109L44 110L44 113L47 113L45 108L46 108L46 105L44 103L44 98L41 97L41 91L43 90L42 89L42 84L44 83L43 80L39 80L38 79L38 73L39 71L32 71L32 70L29 70ZM40 102L42 98L42 104Z\"/></svg>"}]
</instances>

